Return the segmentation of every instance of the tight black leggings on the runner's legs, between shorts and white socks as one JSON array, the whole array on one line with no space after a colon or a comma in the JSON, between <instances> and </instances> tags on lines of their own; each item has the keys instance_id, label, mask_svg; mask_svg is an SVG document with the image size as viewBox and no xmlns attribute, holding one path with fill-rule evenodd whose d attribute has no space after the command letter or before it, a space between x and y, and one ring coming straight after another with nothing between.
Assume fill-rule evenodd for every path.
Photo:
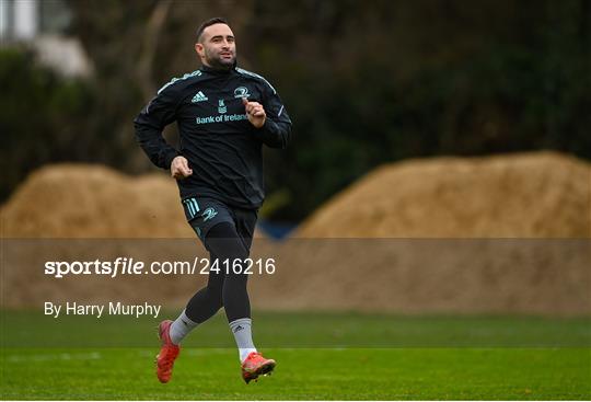
<instances>
[{"instance_id":1,"label":"tight black leggings on the runner's legs, between shorts and white socks","mask_svg":"<svg viewBox=\"0 0 591 402\"><path fill-rule=\"evenodd\" d=\"M204 243L209 251L210 263L213 264L218 260L220 271L209 272L207 286L193 296L187 303L185 314L193 321L201 323L223 306L228 322L251 318L251 301L246 290L248 275L234 274L232 269L233 261L248 256L248 249L240 238L236 228L230 222L220 222L209 229ZM227 259L229 265L223 263Z\"/></svg>"}]
</instances>

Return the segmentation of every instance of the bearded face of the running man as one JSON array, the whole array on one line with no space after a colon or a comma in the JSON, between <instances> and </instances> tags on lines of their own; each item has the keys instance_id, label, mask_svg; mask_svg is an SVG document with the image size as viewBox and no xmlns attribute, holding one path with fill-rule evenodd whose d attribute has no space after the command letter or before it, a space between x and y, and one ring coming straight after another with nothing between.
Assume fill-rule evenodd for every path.
<instances>
[{"instance_id":1,"label":"bearded face of the running man","mask_svg":"<svg viewBox=\"0 0 591 402\"><path fill-rule=\"evenodd\" d=\"M204 30L195 50L208 67L229 69L236 60L236 43L230 26L213 24Z\"/></svg>"}]
</instances>

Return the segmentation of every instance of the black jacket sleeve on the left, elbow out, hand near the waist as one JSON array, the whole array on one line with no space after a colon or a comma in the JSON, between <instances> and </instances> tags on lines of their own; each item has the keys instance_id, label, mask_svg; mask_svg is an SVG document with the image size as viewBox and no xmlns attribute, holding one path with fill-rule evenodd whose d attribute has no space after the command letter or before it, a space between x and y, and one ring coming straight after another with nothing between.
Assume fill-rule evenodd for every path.
<instances>
[{"instance_id":1,"label":"black jacket sleeve on the left, elbow out, hand near the waist","mask_svg":"<svg viewBox=\"0 0 591 402\"><path fill-rule=\"evenodd\" d=\"M134 120L136 140L152 163L162 169L170 169L172 160L181 154L162 136L164 127L176 118L176 105L175 93L164 88Z\"/></svg>"}]
</instances>

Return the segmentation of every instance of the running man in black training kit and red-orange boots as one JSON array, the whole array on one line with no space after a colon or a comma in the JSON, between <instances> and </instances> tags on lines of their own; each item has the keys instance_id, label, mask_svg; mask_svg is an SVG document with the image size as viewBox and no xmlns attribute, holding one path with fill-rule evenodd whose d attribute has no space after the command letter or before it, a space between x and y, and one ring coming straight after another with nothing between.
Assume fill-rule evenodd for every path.
<instances>
[{"instance_id":1,"label":"running man in black training kit and red-orange boots","mask_svg":"<svg viewBox=\"0 0 591 402\"><path fill-rule=\"evenodd\" d=\"M228 22L216 18L197 31L201 68L174 78L134 120L136 138L150 160L177 180L188 223L210 261L250 255L258 208L264 200L262 148L285 149L291 120L279 95L263 77L236 67L236 45ZM181 150L162 137L177 123ZM232 271L232 269L230 269ZM160 323L157 375L169 382L181 342L222 306L248 383L275 368L257 352L251 332L247 275L210 271L175 321Z\"/></svg>"}]
</instances>

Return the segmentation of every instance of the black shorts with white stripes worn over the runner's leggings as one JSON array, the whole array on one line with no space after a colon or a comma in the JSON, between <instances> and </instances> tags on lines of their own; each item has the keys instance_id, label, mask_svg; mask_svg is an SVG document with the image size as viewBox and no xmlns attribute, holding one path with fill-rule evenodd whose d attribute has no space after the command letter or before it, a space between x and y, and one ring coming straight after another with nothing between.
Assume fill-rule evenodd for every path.
<instances>
[{"instance_id":1,"label":"black shorts with white stripes worn over the runner's leggings","mask_svg":"<svg viewBox=\"0 0 591 402\"><path fill-rule=\"evenodd\" d=\"M206 197L185 198L183 208L188 223L201 241L216 225L230 222L236 228L246 249L251 250L258 209L230 207L220 200Z\"/></svg>"}]
</instances>

